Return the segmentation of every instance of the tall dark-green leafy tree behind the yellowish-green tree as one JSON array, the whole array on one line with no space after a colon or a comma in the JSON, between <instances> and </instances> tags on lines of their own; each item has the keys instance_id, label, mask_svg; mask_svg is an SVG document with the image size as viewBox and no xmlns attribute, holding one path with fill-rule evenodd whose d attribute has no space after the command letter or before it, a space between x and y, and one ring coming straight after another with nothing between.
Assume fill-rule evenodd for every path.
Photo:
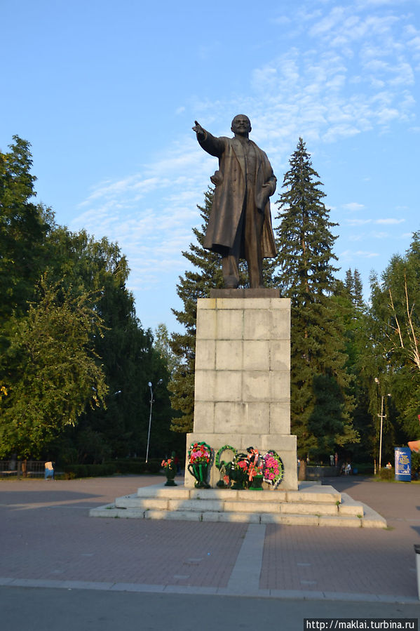
<instances>
[{"instance_id":1,"label":"tall dark-green leafy tree behind the yellowish-green tree","mask_svg":"<svg viewBox=\"0 0 420 631\"><path fill-rule=\"evenodd\" d=\"M65 283L98 292L97 312L104 335L95 337L109 393L106 407L87 410L78 426L51 445L60 453L76 447L79 462L100 463L104 458L146 453L149 425L149 387L157 384L150 453L161 456L177 439L170 432L168 367L154 349L151 331L144 331L135 315L133 295L126 289L128 265L116 244L95 241L86 232L55 230L49 239L53 273L65 267ZM176 444L177 446L177 444ZM72 450L71 450L72 453Z\"/></svg>"}]
</instances>

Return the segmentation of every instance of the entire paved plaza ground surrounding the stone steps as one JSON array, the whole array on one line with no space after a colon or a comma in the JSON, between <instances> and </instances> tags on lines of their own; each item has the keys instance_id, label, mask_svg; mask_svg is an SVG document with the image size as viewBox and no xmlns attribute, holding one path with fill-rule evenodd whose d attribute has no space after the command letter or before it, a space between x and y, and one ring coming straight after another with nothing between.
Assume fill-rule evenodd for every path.
<instances>
[{"instance_id":1,"label":"entire paved plaza ground surrounding the stone steps","mask_svg":"<svg viewBox=\"0 0 420 631\"><path fill-rule=\"evenodd\" d=\"M126 620L133 612L133 628L172 620L184 630L194 628L196 609L208 612L201 629L214 627L215 611L233 628L238 616L241 629L265 616L287 618L282 628L291 631L305 617L419 617L419 484L325 480L377 510L388 529L88 517L90 508L163 481L0 481L2 627L35 612L39 623L27 629L60 616L62 631L118 630L118 613ZM81 619L67 627L65 611L84 612L86 626Z\"/></svg>"}]
</instances>

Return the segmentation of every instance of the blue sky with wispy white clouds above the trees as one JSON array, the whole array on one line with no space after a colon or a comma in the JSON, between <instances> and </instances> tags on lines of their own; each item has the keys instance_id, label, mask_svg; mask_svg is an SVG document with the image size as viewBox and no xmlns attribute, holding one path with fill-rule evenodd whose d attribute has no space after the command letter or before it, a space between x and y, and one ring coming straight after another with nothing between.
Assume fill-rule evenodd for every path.
<instances>
[{"instance_id":1,"label":"blue sky with wispy white clouds above the trees","mask_svg":"<svg viewBox=\"0 0 420 631\"><path fill-rule=\"evenodd\" d=\"M181 251L216 160L194 120L248 114L278 190L299 136L344 277L420 230L419 0L3 0L0 150L32 143L37 199L117 241L146 327L179 328ZM273 215L276 207L272 206Z\"/></svg>"}]
</instances>

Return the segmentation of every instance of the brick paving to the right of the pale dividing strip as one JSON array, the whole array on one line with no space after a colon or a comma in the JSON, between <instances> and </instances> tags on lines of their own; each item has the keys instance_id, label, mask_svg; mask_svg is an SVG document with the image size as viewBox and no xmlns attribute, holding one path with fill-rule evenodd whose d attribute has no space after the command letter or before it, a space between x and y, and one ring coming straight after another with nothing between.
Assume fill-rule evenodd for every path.
<instances>
[{"instance_id":1,"label":"brick paving to the right of the pale dividing strip","mask_svg":"<svg viewBox=\"0 0 420 631\"><path fill-rule=\"evenodd\" d=\"M337 491L383 515L388 529L266 529L260 587L417 597L420 484L330 478Z\"/></svg>"}]
</instances>

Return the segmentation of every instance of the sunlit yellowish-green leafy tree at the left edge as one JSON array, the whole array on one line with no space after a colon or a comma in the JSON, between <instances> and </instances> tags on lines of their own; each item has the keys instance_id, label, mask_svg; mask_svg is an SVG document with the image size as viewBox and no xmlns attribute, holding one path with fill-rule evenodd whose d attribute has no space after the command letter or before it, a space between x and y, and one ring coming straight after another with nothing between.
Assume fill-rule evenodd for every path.
<instances>
[{"instance_id":1,"label":"sunlit yellowish-green leafy tree at the left edge","mask_svg":"<svg viewBox=\"0 0 420 631\"><path fill-rule=\"evenodd\" d=\"M73 297L41 278L39 300L17 322L7 351L1 456L38 455L65 425L75 425L87 402L103 403L107 385L92 344L103 324L93 302L89 293Z\"/></svg>"}]
</instances>

